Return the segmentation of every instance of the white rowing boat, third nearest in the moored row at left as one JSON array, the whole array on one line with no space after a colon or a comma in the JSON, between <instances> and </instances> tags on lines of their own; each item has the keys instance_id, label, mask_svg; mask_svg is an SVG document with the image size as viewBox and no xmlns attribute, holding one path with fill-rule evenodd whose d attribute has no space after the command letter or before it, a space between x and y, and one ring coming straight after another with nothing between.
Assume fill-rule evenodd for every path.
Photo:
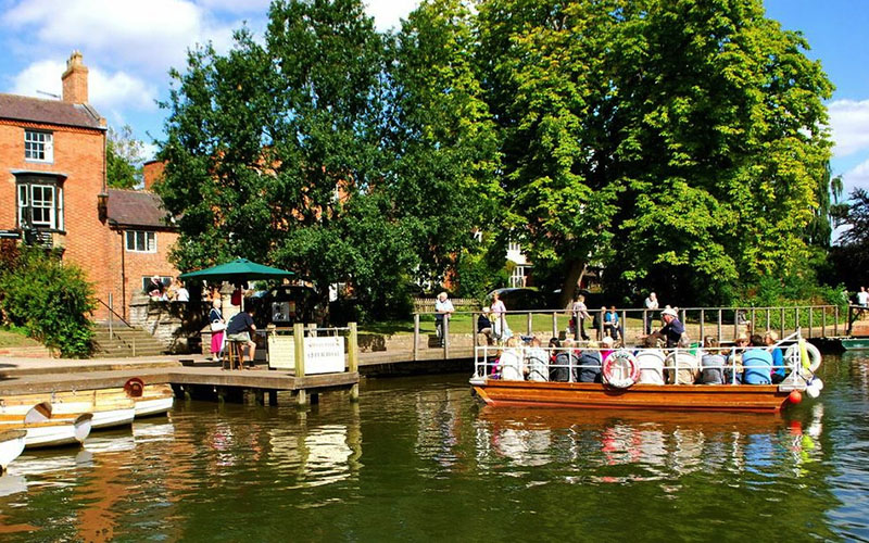
<instances>
[{"instance_id":1,"label":"white rowing boat, third nearest in the moored row at left","mask_svg":"<svg viewBox=\"0 0 869 543\"><path fill-rule=\"evenodd\" d=\"M43 394L4 396L0 414L25 415L34 405L47 402L54 415L93 415L92 429L129 426L136 417L136 404L128 397L101 397L96 390L74 390Z\"/></svg>"}]
</instances>

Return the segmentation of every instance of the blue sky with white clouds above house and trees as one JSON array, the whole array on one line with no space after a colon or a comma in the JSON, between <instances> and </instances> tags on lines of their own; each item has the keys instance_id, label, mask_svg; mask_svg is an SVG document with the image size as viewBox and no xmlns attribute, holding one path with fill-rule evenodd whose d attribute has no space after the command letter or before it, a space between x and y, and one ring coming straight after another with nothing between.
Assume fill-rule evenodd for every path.
<instances>
[{"instance_id":1,"label":"blue sky with white clouds above house and trees","mask_svg":"<svg viewBox=\"0 0 869 543\"><path fill-rule=\"evenodd\" d=\"M50 98L73 50L89 68L90 103L109 125L129 125L153 153L162 138L171 67L211 41L224 52L234 29L262 35L268 0L0 0L0 92ZM368 0L381 30L400 25L418 0ZM869 0L765 0L767 16L804 34L835 91L828 101L833 175L845 193L869 189ZM48 94L45 94L47 92Z\"/></svg>"}]
</instances>

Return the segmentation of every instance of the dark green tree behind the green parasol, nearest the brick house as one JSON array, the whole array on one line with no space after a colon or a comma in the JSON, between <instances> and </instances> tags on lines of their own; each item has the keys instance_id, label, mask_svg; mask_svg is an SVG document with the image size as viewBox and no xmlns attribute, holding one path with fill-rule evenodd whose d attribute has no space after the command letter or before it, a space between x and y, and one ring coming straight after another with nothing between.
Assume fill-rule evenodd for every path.
<instances>
[{"instance_id":1,"label":"dark green tree behind the green parasol, nearest the brick house","mask_svg":"<svg viewBox=\"0 0 869 543\"><path fill-rule=\"evenodd\" d=\"M401 306L389 288L416 262L383 197L385 62L356 0L277 1L264 40L242 29L226 55L191 52L164 104L158 186L181 216L178 267L247 256L323 295L350 282L371 315Z\"/></svg>"}]
</instances>

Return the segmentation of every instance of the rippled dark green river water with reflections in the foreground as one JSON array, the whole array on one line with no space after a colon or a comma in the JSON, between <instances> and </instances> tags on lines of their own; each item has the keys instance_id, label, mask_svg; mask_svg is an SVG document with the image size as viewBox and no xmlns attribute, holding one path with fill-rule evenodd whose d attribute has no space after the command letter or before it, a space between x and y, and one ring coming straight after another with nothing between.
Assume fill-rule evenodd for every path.
<instances>
[{"instance_id":1,"label":"rippled dark green river water with reflections in the foreground","mask_svg":"<svg viewBox=\"0 0 869 543\"><path fill-rule=\"evenodd\" d=\"M822 376L783 418L482 408L465 376L307 413L179 402L20 457L0 539L869 540L869 362Z\"/></svg>"}]
</instances>

